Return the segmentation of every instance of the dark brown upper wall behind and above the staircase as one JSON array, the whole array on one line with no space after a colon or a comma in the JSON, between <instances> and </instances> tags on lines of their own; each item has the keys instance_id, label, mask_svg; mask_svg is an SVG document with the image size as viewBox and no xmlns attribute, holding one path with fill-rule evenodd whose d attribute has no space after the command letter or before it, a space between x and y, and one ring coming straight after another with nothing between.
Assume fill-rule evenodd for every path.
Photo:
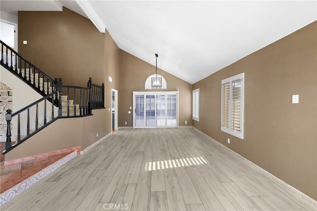
<instances>
[{"instance_id":1,"label":"dark brown upper wall behind and above the staircase","mask_svg":"<svg viewBox=\"0 0 317 211\"><path fill-rule=\"evenodd\" d=\"M19 11L19 53L63 84L87 86L105 78L105 34L86 17L63 11ZM23 41L27 45L23 45Z\"/></svg>"}]
</instances>

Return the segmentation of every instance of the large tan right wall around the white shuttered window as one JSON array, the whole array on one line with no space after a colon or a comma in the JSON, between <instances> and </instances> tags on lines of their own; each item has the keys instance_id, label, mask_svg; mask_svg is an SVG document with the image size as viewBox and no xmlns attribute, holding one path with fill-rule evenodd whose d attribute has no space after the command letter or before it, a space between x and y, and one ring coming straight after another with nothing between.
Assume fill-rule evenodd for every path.
<instances>
[{"instance_id":1,"label":"large tan right wall around the white shuttered window","mask_svg":"<svg viewBox=\"0 0 317 211\"><path fill-rule=\"evenodd\" d=\"M317 22L195 83L193 126L317 200ZM245 72L244 140L220 130L221 80ZM299 95L299 104L292 104ZM227 144L230 138L230 144Z\"/></svg>"}]
</instances>

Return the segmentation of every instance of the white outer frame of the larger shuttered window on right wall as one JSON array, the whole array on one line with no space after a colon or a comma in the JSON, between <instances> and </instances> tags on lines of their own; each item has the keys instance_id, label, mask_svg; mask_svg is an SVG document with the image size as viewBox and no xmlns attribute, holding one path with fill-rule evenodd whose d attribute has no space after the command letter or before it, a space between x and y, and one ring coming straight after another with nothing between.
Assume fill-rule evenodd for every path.
<instances>
[{"instance_id":1,"label":"white outer frame of the larger shuttered window on right wall","mask_svg":"<svg viewBox=\"0 0 317 211\"><path fill-rule=\"evenodd\" d=\"M240 131L231 128L232 116L232 82L241 79L241 97L240 97ZM223 123L223 84L230 83L229 88L229 126L225 127ZM221 80L221 131L236 136L240 139L244 137L244 73Z\"/></svg>"}]
</instances>

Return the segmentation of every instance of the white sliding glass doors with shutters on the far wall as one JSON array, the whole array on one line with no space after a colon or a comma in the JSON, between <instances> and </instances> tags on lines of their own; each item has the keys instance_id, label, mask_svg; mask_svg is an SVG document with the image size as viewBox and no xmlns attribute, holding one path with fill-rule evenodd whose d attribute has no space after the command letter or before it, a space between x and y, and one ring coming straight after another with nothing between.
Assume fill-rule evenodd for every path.
<instances>
[{"instance_id":1,"label":"white sliding glass doors with shutters on the far wall","mask_svg":"<svg viewBox=\"0 0 317 211\"><path fill-rule=\"evenodd\" d=\"M178 92L133 92L133 128L178 127Z\"/></svg>"}]
</instances>

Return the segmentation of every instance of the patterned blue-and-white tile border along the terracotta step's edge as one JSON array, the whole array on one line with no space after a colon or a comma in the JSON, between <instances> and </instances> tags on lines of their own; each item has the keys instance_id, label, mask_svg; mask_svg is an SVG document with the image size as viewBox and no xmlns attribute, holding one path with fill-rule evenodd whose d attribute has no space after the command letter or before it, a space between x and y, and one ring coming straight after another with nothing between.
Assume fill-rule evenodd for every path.
<instances>
[{"instance_id":1,"label":"patterned blue-and-white tile border along the terracotta step's edge","mask_svg":"<svg viewBox=\"0 0 317 211\"><path fill-rule=\"evenodd\" d=\"M36 182L40 181L42 178L49 175L54 170L56 170L72 158L75 158L77 155L77 151L74 151L71 154L65 156L64 158L57 160L56 162L39 171L38 173L34 174L33 176L29 177L28 179L20 182L19 184L15 185L9 190L3 192L2 194L0 194L0 206L4 205L5 203L13 199L15 196L19 195L24 190L34 185Z\"/></svg>"}]
</instances>

